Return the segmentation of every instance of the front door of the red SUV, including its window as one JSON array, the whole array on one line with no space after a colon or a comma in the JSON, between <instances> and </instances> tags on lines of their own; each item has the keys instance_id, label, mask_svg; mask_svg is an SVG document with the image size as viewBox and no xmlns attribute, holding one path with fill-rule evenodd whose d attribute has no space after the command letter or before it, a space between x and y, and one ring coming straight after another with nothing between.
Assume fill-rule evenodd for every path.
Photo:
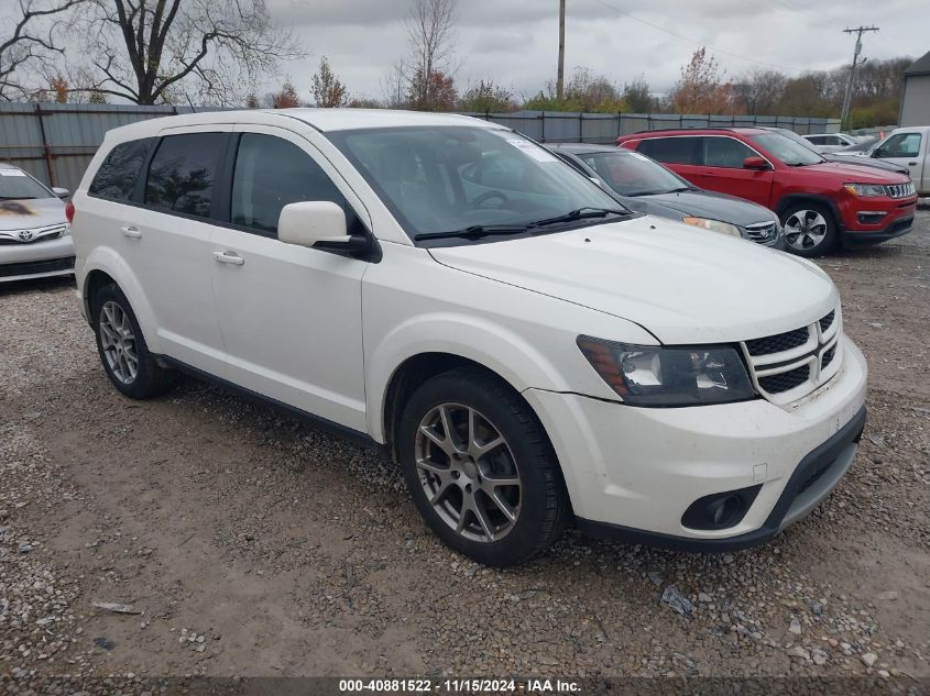
<instances>
[{"instance_id":1,"label":"front door of the red SUV, including its window","mask_svg":"<svg viewBox=\"0 0 930 696\"><path fill-rule=\"evenodd\" d=\"M761 157L759 153L727 135L705 135L698 146L700 166L691 179L701 188L720 194L745 198L761 206L768 206L774 172L746 169L748 157ZM690 178L690 177L689 177Z\"/></svg>"}]
</instances>

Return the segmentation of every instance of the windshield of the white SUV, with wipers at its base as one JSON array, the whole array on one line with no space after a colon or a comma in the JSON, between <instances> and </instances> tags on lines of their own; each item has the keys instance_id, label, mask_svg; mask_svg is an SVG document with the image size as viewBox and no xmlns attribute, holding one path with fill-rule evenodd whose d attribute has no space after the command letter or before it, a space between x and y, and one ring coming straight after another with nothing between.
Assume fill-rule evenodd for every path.
<instances>
[{"instance_id":1,"label":"windshield of the white SUV, with wipers at its base","mask_svg":"<svg viewBox=\"0 0 930 696\"><path fill-rule=\"evenodd\" d=\"M405 126L328 135L411 236L522 228L571 211L621 208L571 166L511 131ZM604 217L575 216L572 222L593 224Z\"/></svg>"}]
</instances>

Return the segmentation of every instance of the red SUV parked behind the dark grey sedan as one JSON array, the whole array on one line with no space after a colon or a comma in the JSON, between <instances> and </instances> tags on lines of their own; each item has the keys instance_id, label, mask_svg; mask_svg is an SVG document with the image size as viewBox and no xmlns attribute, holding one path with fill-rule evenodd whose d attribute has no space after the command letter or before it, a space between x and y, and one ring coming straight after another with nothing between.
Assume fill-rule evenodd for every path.
<instances>
[{"instance_id":1,"label":"red SUV parked behind the dark grey sedan","mask_svg":"<svg viewBox=\"0 0 930 696\"><path fill-rule=\"evenodd\" d=\"M819 256L838 241L874 244L910 231L917 192L907 175L827 162L779 133L756 128L648 131L616 144L658 159L711 191L778 213L788 251Z\"/></svg>"}]
</instances>

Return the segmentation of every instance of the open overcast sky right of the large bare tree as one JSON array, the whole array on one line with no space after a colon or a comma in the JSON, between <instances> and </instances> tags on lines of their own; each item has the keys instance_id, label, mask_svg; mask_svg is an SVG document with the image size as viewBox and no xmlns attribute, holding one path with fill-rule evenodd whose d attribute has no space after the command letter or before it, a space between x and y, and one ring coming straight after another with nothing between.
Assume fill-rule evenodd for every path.
<instances>
[{"instance_id":1,"label":"open overcast sky right of the large bare tree","mask_svg":"<svg viewBox=\"0 0 930 696\"><path fill-rule=\"evenodd\" d=\"M281 79L289 76L302 99L309 99L324 55L352 96L384 97L384 75L406 51L412 0L266 1L308 53L282 66ZM459 90L489 77L518 98L544 89L556 75L558 4L458 0ZM849 64L855 38L842 30L873 24L880 31L863 36L863 56L917 58L930 51L926 7L926 0L567 0L566 75L586 67L621 88L642 75L664 93L701 45L729 76L753 68L799 75Z\"/></svg>"}]
</instances>

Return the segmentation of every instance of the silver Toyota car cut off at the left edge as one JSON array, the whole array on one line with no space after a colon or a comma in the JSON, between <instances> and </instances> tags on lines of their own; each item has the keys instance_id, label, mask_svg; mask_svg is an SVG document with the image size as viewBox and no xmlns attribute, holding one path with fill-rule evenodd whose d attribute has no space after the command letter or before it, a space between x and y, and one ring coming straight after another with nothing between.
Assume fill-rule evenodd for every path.
<instances>
[{"instance_id":1,"label":"silver Toyota car cut off at the left edge","mask_svg":"<svg viewBox=\"0 0 930 696\"><path fill-rule=\"evenodd\" d=\"M0 283L74 273L68 196L0 162Z\"/></svg>"}]
</instances>

